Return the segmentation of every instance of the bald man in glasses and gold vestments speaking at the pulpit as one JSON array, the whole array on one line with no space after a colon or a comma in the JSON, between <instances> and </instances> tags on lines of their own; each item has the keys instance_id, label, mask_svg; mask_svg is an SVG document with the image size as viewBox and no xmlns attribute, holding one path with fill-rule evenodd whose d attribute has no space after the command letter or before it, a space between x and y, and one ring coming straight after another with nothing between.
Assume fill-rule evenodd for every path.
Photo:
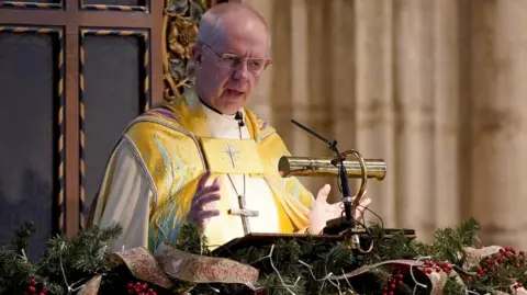
<instances>
[{"instance_id":1,"label":"bald man in glasses and gold vestments speaking at the pulpit","mask_svg":"<svg viewBox=\"0 0 527 295\"><path fill-rule=\"evenodd\" d=\"M155 250L176 241L186 222L217 247L248 232L318 234L340 216L340 204L326 202L329 185L314 202L295 178L279 175L288 149L244 107L270 64L269 47L266 22L246 5L218 4L203 15L195 87L136 118L108 164L92 218L124 227L112 250Z\"/></svg>"}]
</instances>

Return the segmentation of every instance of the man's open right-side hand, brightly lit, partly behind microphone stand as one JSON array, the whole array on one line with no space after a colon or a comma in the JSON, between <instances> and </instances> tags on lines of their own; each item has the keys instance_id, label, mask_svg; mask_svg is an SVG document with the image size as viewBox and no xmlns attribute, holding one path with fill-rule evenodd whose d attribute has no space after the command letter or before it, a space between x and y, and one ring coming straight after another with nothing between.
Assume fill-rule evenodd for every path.
<instances>
[{"instance_id":1,"label":"man's open right-side hand, brightly lit, partly behind microphone stand","mask_svg":"<svg viewBox=\"0 0 527 295\"><path fill-rule=\"evenodd\" d=\"M318 191L310 214L310 234L312 235L321 234L324 227L326 227L327 220L338 218L343 214L343 202L335 204L327 203L327 196L329 195L330 191L332 186L329 184L324 185L324 188ZM362 218L362 214L370 203L371 198L363 198L360 202L360 205L357 206L355 212L355 219Z\"/></svg>"}]
</instances>

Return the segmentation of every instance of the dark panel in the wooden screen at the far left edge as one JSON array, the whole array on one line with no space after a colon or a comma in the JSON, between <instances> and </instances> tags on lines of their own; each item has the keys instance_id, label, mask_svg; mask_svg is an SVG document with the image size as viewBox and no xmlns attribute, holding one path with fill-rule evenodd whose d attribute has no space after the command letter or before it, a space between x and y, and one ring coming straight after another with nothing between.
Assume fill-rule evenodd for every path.
<instances>
[{"instance_id":1,"label":"dark panel in the wooden screen at the far left edge","mask_svg":"<svg viewBox=\"0 0 527 295\"><path fill-rule=\"evenodd\" d=\"M64 228L61 36L52 29L0 27L0 245L32 220L32 259Z\"/></svg>"}]
</instances>

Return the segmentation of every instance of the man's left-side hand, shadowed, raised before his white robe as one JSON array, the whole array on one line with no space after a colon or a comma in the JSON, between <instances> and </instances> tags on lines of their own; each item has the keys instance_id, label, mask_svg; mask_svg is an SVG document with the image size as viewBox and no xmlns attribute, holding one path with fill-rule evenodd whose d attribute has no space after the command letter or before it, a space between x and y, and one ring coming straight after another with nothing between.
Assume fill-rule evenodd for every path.
<instances>
[{"instance_id":1,"label":"man's left-side hand, shadowed, raised before his white robe","mask_svg":"<svg viewBox=\"0 0 527 295\"><path fill-rule=\"evenodd\" d=\"M220 215L220 211L212 209L213 206L211 206L213 205L213 202L221 198L220 178L216 178L212 185L205 186L210 178L211 171L206 171L206 173L200 178L187 216L187 219L194 223L200 230L204 230L205 225L211 217Z\"/></svg>"}]
</instances>

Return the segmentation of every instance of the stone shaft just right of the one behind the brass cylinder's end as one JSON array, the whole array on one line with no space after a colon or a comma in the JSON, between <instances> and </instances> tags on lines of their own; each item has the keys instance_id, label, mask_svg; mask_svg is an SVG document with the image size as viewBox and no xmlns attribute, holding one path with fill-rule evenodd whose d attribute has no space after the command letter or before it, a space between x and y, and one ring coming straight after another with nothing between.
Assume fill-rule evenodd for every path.
<instances>
[{"instance_id":1,"label":"stone shaft just right of the one behind the brass cylinder's end","mask_svg":"<svg viewBox=\"0 0 527 295\"><path fill-rule=\"evenodd\" d=\"M430 240L434 229L433 0L394 1L397 225ZM392 174L392 175L393 175ZM430 218L431 217L431 218Z\"/></svg>"}]
</instances>

